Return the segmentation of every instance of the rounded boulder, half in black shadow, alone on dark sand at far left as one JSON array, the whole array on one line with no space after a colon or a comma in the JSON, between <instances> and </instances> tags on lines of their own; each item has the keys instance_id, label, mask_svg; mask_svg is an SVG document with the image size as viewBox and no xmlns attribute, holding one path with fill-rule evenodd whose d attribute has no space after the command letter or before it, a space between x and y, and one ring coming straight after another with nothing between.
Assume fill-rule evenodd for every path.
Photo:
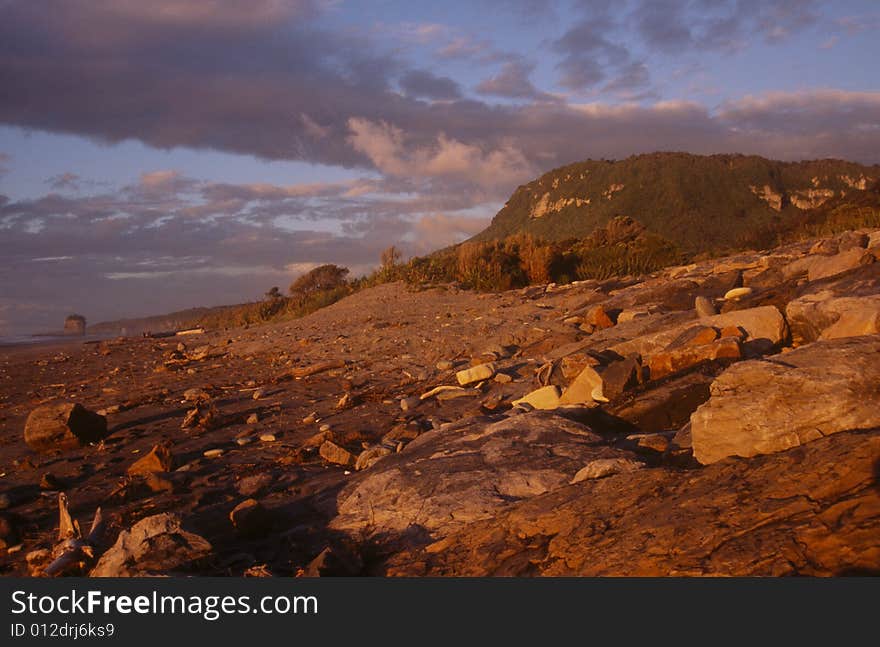
<instances>
[{"instance_id":1,"label":"rounded boulder, half in black shadow, alone on dark sand at far left","mask_svg":"<svg viewBox=\"0 0 880 647\"><path fill-rule=\"evenodd\" d=\"M24 440L37 452L75 449L107 436L107 418L79 403L45 404L31 411Z\"/></svg>"}]
</instances>

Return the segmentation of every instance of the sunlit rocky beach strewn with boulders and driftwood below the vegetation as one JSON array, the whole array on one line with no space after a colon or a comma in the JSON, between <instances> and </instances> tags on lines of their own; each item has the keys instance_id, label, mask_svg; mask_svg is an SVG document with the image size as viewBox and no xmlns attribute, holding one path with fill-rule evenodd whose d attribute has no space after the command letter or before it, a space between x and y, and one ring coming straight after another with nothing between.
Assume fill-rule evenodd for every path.
<instances>
[{"instance_id":1,"label":"sunlit rocky beach strewn with boulders and driftwood below the vegetation","mask_svg":"<svg viewBox=\"0 0 880 647\"><path fill-rule=\"evenodd\" d=\"M878 257L0 348L0 572L880 573Z\"/></svg>"}]
</instances>

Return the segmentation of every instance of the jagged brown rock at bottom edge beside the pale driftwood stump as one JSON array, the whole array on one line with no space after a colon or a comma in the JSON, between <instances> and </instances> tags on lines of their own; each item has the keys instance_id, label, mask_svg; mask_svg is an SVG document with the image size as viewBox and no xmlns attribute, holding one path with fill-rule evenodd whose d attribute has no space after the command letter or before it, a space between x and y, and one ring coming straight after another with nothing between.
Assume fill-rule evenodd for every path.
<instances>
[{"instance_id":1,"label":"jagged brown rock at bottom edge beside the pale driftwood stump","mask_svg":"<svg viewBox=\"0 0 880 647\"><path fill-rule=\"evenodd\" d=\"M211 552L203 537L181 527L171 513L141 519L119 533L90 577L144 577L187 571Z\"/></svg>"}]
</instances>

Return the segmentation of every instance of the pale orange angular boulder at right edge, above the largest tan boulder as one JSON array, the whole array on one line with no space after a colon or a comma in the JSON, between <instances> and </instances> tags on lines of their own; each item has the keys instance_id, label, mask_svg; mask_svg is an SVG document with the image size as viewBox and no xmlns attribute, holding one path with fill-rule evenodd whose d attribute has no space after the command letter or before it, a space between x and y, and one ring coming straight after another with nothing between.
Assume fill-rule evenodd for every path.
<instances>
[{"instance_id":1,"label":"pale orange angular boulder at right edge, above the largest tan boulder","mask_svg":"<svg viewBox=\"0 0 880 647\"><path fill-rule=\"evenodd\" d=\"M802 345L880 333L880 289L864 297L836 297L832 290L805 294L785 308L792 340Z\"/></svg>"}]
</instances>

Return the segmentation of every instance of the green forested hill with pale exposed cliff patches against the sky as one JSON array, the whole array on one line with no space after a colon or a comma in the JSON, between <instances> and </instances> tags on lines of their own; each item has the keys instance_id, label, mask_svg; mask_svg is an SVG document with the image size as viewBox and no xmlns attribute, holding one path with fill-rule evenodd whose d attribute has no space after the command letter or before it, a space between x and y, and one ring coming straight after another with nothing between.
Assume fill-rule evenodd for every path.
<instances>
[{"instance_id":1,"label":"green forested hill with pale exposed cliff patches against the sky","mask_svg":"<svg viewBox=\"0 0 880 647\"><path fill-rule=\"evenodd\" d=\"M859 201L880 167L842 160L653 153L588 160L520 186L476 240L582 238L629 216L689 252L732 249L758 229ZM878 203L880 204L880 203Z\"/></svg>"}]
</instances>

